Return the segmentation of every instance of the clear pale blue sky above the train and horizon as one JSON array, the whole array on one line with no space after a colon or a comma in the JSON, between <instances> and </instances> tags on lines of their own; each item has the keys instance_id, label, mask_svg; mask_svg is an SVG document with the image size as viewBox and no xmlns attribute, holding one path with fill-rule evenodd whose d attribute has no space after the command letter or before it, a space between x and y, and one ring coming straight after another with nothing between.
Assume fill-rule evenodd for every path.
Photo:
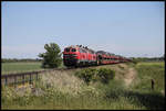
<instances>
[{"instance_id":1,"label":"clear pale blue sky above the train and horizon","mask_svg":"<svg viewBox=\"0 0 166 111\"><path fill-rule=\"evenodd\" d=\"M2 1L1 57L39 58L44 44L84 45L125 57L165 53L162 1Z\"/></svg>"}]
</instances>

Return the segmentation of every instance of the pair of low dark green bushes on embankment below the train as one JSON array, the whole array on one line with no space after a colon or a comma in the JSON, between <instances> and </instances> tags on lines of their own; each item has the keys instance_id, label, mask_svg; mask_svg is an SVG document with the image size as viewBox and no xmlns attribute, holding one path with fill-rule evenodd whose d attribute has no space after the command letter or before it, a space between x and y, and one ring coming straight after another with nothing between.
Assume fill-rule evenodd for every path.
<instances>
[{"instance_id":1,"label":"pair of low dark green bushes on embankment below the train","mask_svg":"<svg viewBox=\"0 0 166 111\"><path fill-rule=\"evenodd\" d=\"M76 71L75 75L82 78L87 85L90 84L90 81L97 80L100 80L103 84L108 84L111 79L114 79L115 71L107 68L87 68Z\"/></svg>"}]
</instances>

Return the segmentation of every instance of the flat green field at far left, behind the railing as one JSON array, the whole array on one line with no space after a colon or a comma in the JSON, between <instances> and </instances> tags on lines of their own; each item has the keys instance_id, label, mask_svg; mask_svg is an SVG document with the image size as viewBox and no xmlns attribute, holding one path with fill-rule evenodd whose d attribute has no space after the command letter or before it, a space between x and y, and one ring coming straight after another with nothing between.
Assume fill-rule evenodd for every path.
<instances>
[{"instance_id":1,"label":"flat green field at far left, behind the railing","mask_svg":"<svg viewBox=\"0 0 166 111\"><path fill-rule=\"evenodd\" d=\"M10 74L10 73L23 73L23 71L32 71L32 70L40 70L41 63L2 63L2 75Z\"/></svg>"}]
</instances>

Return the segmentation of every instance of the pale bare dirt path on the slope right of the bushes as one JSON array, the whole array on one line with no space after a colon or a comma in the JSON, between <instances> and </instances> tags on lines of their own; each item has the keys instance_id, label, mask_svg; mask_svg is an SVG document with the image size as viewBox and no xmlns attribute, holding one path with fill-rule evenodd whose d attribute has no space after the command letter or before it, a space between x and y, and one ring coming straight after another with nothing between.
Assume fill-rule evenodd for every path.
<instances>
[{"instance_id":1,"label":"pale bare dirt path on the slope right of the bushes","mask_svg":"<svg viewBox=\"0 0 166 111\"><path fill-rule=\"evenodd\" d=\"M125 85L128 87L132 84L132 81L135 79L135 77L136 77L136 70L134 68L129 68L127 74L124 77Z\"/></svg>"}]
</instances>

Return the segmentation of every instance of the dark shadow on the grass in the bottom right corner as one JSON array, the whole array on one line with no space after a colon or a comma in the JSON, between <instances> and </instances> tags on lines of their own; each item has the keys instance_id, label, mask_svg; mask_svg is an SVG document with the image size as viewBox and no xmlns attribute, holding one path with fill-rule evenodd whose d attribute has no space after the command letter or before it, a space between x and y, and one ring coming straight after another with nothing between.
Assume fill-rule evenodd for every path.
<instances>
[{"instance_id":1,"label":"dark shadow on the grass in the bottom right corner","mask_svg":"<svg viewBox=\"0 0 166 111\"><path fill-rule=\"evenodd\" d=\"M165 97L158 92L136 92L120 90L106 93L106 99L120 99L125 97L129 102L136 106L144 106L147 110L163 110L165 109Z\"/></svg>"}]
</instances>

